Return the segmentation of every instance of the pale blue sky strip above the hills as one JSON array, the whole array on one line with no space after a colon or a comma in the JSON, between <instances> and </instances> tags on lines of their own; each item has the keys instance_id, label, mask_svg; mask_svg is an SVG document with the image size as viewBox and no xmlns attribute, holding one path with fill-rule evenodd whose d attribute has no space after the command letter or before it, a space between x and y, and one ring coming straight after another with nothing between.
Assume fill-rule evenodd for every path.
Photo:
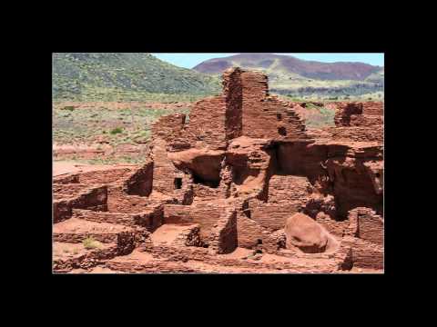
<instances>
[{"instance_id":1,"label":"pale blue sky strip above the hills","mask_svg":"<svg viewBox=\"0 0 437 327\"><path fill-rule=\"evenodd\" d=\"M179 67L193 68L196 64L212 59L234 54L153 54L161 60ZM360 62L366 64L384 65L384 54L288 54L304 60L320 61L322 63Z\"/></svg>"}]
</instances>

